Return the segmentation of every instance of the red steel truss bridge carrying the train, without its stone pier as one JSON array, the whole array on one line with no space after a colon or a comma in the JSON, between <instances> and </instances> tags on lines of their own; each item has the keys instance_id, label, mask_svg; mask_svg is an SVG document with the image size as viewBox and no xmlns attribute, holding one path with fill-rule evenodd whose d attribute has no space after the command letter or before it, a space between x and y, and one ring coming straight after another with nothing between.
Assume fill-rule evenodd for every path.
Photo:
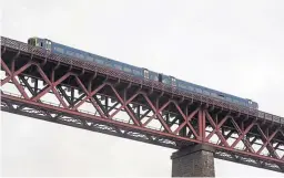
<instances>
[{"instance_id":1,"label":"red steel truss bridge carrying the train, without its stone pier","mask_svg":"<svg viewBox=\"0 0 284 178\"><path fill-rule=\"evenodd\" d=\"M1 109L284 172L284 118L1 36Z\"/></svg>"}]
</instances>

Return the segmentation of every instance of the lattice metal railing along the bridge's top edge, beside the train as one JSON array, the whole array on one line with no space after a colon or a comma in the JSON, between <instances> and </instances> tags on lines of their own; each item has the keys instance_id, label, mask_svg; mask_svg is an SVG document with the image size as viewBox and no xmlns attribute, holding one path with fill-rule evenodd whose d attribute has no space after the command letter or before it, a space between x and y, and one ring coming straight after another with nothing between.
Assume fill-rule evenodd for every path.
<instances>
[{"instance_id":1,"label":"lattice metal railing along the bridge's top edge, beside the train","mask_svg":"<svg viewBox=\"0 0 284 178\"><path fill-rule=\"evenodd\" d=\"M3 49L10 48L10 49L13 49L13 50L22 51L22 52L26 52L26 53L30 53L32 55L41 56L43 59L49 59L49 60L52 60L52 61L65 63L68 65L73 65L73 66L77 66L79 69L87 69L87 70L90 70L90 71L103 73L103 74L110 75L112 77L119 77L121 80L130 81L130 82L135 83L135 84L148 86L150 88L160 90L162 92L172 93L172 94L175 94L175 95L180 95L182 97L187 97L190 100L192 98L194 101L206 103L209 105L215 105L215 106L219 106L219 107L222 107L222 108L227 108L227 109L235 111L235 112L239 112L239 113L243 113L243 114L246 114L246 115L251 115L251 116L254 116L254 117L257 117L257 118L261 118L261 119L266 119L266 121L271 121L271 122L284 125L284 117L272 115L272 114L261 112L261 111L257 111L257 109L247 108L247 107L240 106L240 105L229 103L229 102L225 102L225 101L219 101L216 98L203 95L201 93L183 92L183 91L178 90L176 87L172 87L172 86L169 86L169 85L165 85L163 83L155 82L155 81L148 81L148 80L136 78L136 77L134 77L130 74L123 73L119 70L110 69L108 66L102 66L102 65L100 65L98 63L94 63L94 62L82 61L82 60L79 60L79 59L75 59L75 57L69 57L69 56L53 54L53 53L48 52L44 49L31 46L31 45L28 45L27 43L16 41L16 40L12 40L12 39L8 39L8 38L4 38L4 36L1 36L0 43L3 46Z\"/></svg>"}]
</instances>

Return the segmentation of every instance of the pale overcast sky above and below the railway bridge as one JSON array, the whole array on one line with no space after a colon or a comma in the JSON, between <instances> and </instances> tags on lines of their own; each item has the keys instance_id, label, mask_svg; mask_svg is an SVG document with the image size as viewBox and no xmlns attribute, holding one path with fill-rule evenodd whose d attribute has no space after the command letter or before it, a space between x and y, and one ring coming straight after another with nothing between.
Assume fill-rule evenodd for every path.
<instances>
[{"instance_id":1,"label":"pale overcast sky above and below the railway bridge","mask_svg":"<svg viewBox=\"0 0 284 178\"><path fill-rule=\"evenodd\" d=\"M284 1L6 0L30 36L252 98L284 116ZM4 176L171 176L172 149L1 113ZM215 159L216 176L283 174Z\"/></svg>"}]
</instances>

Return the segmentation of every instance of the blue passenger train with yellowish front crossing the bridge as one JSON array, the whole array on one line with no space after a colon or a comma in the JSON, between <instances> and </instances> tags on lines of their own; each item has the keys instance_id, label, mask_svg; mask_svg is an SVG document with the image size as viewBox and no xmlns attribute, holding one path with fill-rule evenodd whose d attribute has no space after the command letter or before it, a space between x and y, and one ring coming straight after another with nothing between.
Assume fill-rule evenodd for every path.
<instances>
[{"instance_id":1,"label":"blue passenger train with yellowish front crossing the bridge","mask_svg":"<svg viewBox=\"0 0 284 178\"><path fill-rule=\"evenodd\" d=\"M108 59L104 56L100 56L97 54L92 54L79 49L74 49L68 45L63 45L57 42L53 42L49 39L43 39L43 38L37 38L32 36L28 39L28 44L37 48L42 48L44 50L50 51L51 53L59 54L59 55L65 55L70 57L75 57L80 59L83 61L89 61L89 62L94 62L98 64L101 64L103 66L108 66L111 69L120 70L123 71L134 77L139 77L142 80L148 80L148 81L156 81L161 82L165 85L173 86L180 91L183 92L190 92L190 93L199 93L203 94L206 96L214 97L216 100L230 102L236 105L241 105L244 107L248 107L252 109L258 109L258 104L252 100L248 98L243 98L243 97L237 97L227 93L223 93L216 90L207 88L201 85L196 85L180 78L175 78L171 75L165 75L163 73L150 71L144 67L138 67L134 65L125 64L112 59Z\"/></svg>"}]
</instances>

